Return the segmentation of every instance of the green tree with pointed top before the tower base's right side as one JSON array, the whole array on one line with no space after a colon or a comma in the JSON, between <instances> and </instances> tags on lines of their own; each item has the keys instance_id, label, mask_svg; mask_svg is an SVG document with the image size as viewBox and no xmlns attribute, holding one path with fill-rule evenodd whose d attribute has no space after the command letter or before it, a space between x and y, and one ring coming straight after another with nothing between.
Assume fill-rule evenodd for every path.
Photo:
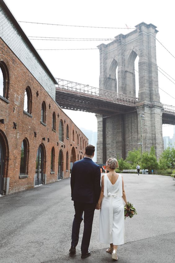
<instances>
[{"instance_id":1,"label":"green tree with pointed top before the tower base's right side","mask_svg":"<svg viewBox=\"0 0 175 263\"><path fill-rule=\"evenodd\" d=\"M148 169L149 172L153 169L159 168L159 164L157 162L155 156L155 148L154 145L151 146L150 153L144 152L141 156L141 168Z\"/></svg>"}]
</instances>

